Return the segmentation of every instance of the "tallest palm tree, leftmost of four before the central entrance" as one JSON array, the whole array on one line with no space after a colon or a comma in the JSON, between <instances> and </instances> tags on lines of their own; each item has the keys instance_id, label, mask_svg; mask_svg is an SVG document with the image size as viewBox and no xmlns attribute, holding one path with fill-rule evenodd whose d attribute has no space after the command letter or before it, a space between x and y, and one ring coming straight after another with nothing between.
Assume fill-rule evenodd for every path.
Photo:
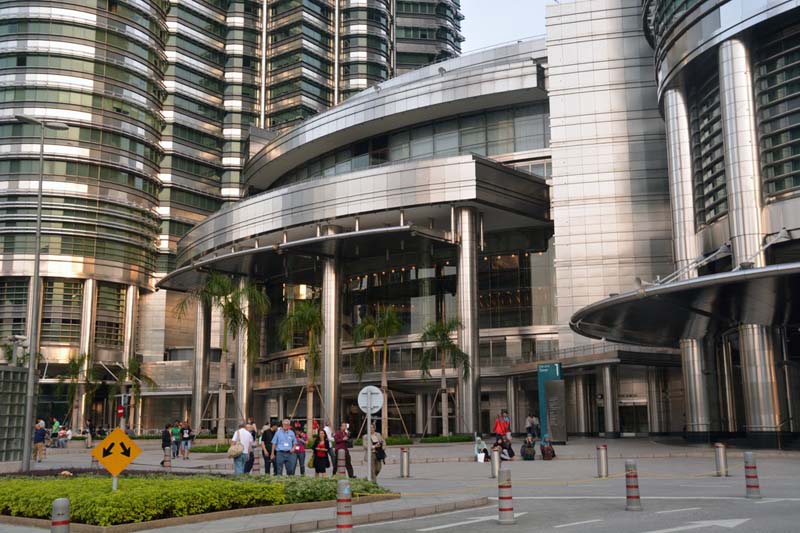
<instances>
[{"instance_id":1,"label":"tallest palm tree, leftmost of four before the central entrance","mask_svg":"<svg viewBox=\"0 0 800 533\"><path fill-rule=\"evenodd\" d=\"M217 309L222 316L222 353L219 360L219 404L217 438L225 439L226 396L228 385L228 335L232 339L247 332L247 357L255 359L260 344L260 328L257 320L248 315L263 317L269 312L269 298L263 287L249 278L238 283L232 276L211 271L205 281L193 288L175 308L178 317L183 317L196 304L204 309ZM197 428L198 430L200 428Z\"/></svg>"}]
</instances>

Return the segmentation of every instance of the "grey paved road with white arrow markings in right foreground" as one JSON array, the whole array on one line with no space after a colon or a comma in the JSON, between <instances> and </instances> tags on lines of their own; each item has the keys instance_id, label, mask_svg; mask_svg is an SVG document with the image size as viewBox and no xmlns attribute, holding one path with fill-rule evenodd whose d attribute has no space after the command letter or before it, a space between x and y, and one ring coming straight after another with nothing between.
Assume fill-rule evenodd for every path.
<instances>
[{"instance_id":1,"label":"grey paved road with white arrow markings in right foreground","mask_svg":"<svg viewBox=\"0 0 800 533\"><path fill-rule=\"evenodd\" d=\"M641 512L625 511L624 461L610 461L612 477L600 480L593 461L512 463L517 524L496 525L496 500L473 509L414 520L387 522L381 531L678 532L800 531L800 461L759 460L761 500L744 498L743 464L731 455L727 478L713 476L709 459L640 459ZM421 496L426 491L497 496L494 480L478 464L425 465L412 480L383 483ZM364 526L370 531L375 524ZM362 528L362 529L364 529Z\"/></svg>"}]
</instances>

